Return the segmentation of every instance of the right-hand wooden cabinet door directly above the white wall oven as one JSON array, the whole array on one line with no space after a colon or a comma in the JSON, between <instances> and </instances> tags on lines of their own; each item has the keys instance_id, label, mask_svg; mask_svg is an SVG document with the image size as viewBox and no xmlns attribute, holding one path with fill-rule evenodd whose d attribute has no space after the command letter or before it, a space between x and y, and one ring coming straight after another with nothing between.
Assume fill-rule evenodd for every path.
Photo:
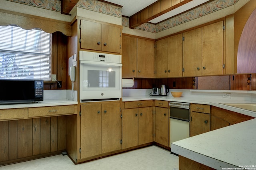
<instances>
[{"instance_id":1,"label":"right-hand wooden cabinet door directly above the white wall oven","mask_svg":"<svg viewBox=\"0 0 256 170\"><path fill-rule=\"evenodd\" d=\"M102 51L120 53L121 29L102 24Z\"/></svg>"}]
</instances>

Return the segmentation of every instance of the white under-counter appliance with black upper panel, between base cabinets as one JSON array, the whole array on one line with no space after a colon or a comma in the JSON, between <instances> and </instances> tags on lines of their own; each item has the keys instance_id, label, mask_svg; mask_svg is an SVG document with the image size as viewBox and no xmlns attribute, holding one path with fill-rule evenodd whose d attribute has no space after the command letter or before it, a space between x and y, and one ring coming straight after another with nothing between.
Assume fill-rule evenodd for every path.
<instances>
[{"instance_id":1,"label":"white under-counter appliance with black upper panel, between base cabinets","mask_svg":"<svg viewBox=\"0 0 256 170\"><path fill-rule=\"evenodd\" d=\"M170 146L189 137L190 104L170 102Z\"/></svg>"}]
</instances>

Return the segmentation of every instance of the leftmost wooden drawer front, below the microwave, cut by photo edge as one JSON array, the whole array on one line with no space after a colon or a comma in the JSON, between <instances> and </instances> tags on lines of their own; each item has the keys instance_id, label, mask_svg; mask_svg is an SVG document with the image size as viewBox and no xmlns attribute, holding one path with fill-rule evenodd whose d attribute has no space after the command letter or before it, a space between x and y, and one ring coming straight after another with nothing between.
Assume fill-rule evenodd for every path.
<instances>
[{"instance_id":1,"label":"leftmost wooden drawer front, below the microwave, cut by photo edge","mask_svg":"<svg viewBox=\"0 0 256 170\"><path fill-rule=\"evenodd\" d=\"M22 119L22 118L24 118L24 108L0 110L0 120Z\"/></svg>"}]
</instances>

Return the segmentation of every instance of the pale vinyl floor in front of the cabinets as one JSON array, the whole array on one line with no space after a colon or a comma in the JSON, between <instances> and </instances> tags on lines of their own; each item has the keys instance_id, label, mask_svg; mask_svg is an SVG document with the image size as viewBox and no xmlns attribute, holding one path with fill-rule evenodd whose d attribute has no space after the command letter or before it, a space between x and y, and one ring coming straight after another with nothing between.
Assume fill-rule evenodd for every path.
<instances>
[{"instance_id":1,"label":"pale vinyl floor in front of the cabinets","mask_svg":"<svg viewBox=\"0 0 256 170\"><path fill-rule=\"evenodd\" d=\"M178 156L150 146L77 165L60 154L0 166L0 170L178 170Z\"/></svg>"}]
</instances>

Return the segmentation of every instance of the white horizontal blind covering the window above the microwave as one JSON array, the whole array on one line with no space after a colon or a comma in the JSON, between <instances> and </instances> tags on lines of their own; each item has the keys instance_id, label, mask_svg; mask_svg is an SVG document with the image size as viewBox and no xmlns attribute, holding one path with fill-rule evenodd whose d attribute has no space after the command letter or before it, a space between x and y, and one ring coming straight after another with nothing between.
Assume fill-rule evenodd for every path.
<instances>
[{"instance_id":1,"label":"white horizontal blind covering the window above the microwave","mask_svg":"<svg viewBox=\"0 0 256 170\"><path fill-rule=\"evenodd\" d=\"M52 34L0 26L0 78L51 80Z\"/></svg>"}]
</instances>

